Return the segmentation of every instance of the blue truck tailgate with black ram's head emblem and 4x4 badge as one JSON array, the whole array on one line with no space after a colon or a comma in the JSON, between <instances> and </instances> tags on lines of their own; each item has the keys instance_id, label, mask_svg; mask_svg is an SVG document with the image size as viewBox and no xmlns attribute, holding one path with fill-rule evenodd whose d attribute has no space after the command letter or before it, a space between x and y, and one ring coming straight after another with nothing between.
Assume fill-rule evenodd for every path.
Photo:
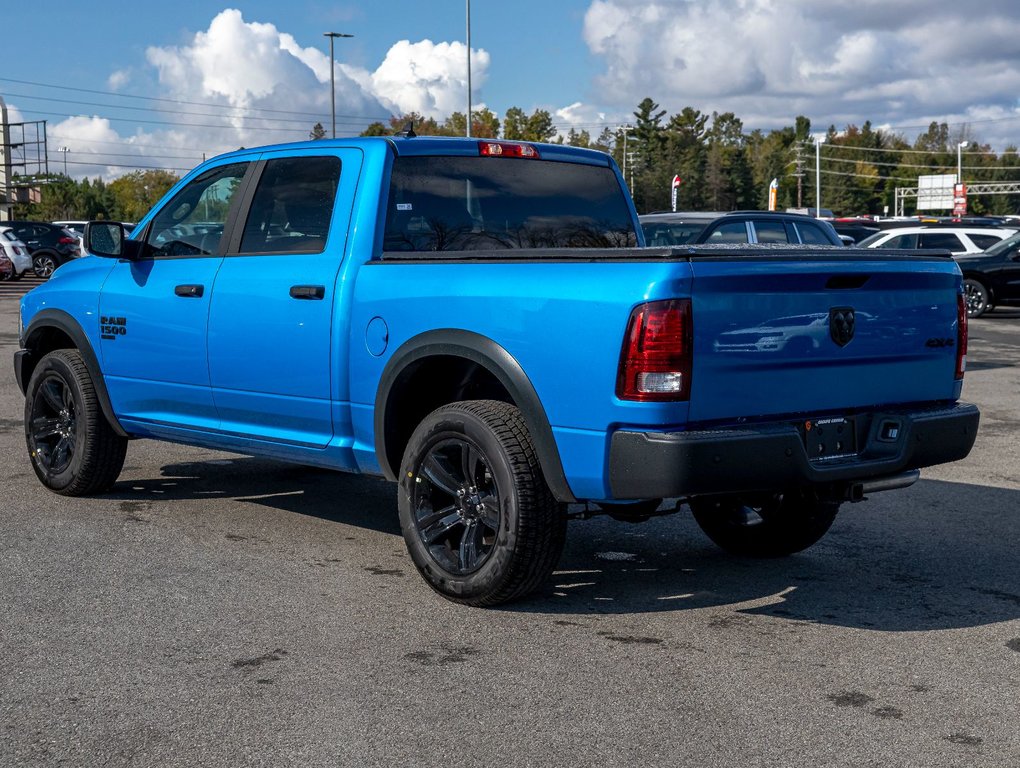
<instances>
[{"instance_id":1,"label":"blue truck tailgate with black ram's head emblem and 4x4 badge","mask_svg":"<svg viewBox=\"0 0 1020 768\"><path fill-rule=\"evenodd\" d=\"M951 258L821 250L691 260L691 422L959 397L961 277Z\"/></svg>"}]
</instances>

